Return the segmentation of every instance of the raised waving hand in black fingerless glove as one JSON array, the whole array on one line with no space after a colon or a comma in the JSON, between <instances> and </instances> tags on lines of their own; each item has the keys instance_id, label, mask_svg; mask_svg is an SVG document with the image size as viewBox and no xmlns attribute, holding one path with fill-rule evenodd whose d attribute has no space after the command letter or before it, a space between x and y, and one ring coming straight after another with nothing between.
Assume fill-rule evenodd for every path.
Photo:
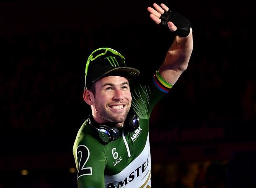
<instances>
[{"instance_id":1,"label":"raised waving hand in black fingerless glove","mask_svg":"<svg viewBox=\"0 0 256 188\"><path fill-rule=\"evenodd\" d=\"M184 16L171 11L165 4L157 5L153 4L154 8L147 7L150 18L160 24L161 26L167 26L170 31L174 32L179 37L186 37L190 33L190 21Z\"/></svg>"}]
</instances>

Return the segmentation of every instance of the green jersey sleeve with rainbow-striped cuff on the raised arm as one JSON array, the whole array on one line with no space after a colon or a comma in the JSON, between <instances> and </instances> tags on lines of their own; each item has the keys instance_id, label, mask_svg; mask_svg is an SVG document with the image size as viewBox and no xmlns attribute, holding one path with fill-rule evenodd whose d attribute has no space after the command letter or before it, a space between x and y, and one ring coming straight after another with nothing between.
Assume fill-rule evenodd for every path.
<instances>
[{"instance_id":1,"label":"green jersey sleeve with rainbow-striped cuff on the raised arm","mask_svg":"<svg viewBox=\"0 0 256 188\"><path fill-rule=\"evenodd\" d=\"M132 92L132 107L139 117L149 119L152 109L172 88L157 71L146 84L140 84Z\"/></svg>"}]
</instances>

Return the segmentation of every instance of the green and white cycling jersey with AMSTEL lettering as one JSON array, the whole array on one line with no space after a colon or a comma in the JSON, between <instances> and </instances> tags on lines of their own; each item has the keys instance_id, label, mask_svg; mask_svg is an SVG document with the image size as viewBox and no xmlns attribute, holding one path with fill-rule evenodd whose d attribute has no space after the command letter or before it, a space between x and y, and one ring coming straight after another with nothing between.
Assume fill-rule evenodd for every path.
<instances>
[{"instance_id":1,"label":"green and white cycling jersey with AMSTEL lettering","mask_svg":"<svg viewBox=\"0 0 256 188\"><path fill-rule=\"evenodd\" d=\"M78 131L73 154L78 170L78 188L150 188L151 154L149 117L156 103L170 88L154 75L147 84L131 91L132 106L139 118L133 132L103 143L87 119Z\"/></svg>"}]
</instances>

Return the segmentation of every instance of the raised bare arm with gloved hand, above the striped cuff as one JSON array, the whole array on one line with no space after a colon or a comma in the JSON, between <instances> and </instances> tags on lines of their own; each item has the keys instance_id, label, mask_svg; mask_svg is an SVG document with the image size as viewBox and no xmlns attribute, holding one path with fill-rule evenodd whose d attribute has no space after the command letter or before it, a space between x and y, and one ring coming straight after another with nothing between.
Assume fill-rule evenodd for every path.
<instances>
[{"instance_id":1,"label":"raised bare arm with gloved hand, above the striped cuff","mask_svg":"<svg viewBox=\"0 0 256 188\"><path fill-rule=\"evenodd\" d=\"M147 8L151 13L151 19L156 24L166 26L176 35L159 68L160 75L170 84L175 84L181 73L188 67L193 50L192 28L188 19L171 11L163 3L160 6L154 3L153 6L154 8Z\"/></svg>"}]
</instances>

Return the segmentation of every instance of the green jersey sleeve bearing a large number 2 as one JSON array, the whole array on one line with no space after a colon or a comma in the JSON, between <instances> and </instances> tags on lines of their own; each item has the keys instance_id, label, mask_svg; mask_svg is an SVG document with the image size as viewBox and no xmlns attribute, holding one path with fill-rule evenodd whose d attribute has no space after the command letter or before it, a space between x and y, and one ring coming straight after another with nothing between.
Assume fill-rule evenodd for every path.
<instances>
[{"instance_id":1,"label":"green jersey sleeve bearing a large number 2","mask_svg":"<svg viewBox=\"0 0 256 188\"><path fill-rule=\"evenodd\" d=\"M73 146L78 170L78 188L104 188L104 169L107 162L104 145L92 137L91 129L88 128L89 126L81 127Z\"/></svg>"}]
</instances>

